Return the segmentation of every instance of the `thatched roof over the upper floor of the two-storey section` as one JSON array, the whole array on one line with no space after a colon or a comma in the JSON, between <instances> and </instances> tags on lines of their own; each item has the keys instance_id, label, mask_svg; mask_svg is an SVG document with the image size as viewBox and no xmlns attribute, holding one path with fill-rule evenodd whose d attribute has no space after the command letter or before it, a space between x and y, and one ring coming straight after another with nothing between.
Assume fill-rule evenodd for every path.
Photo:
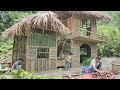
<instances>
[{"instance_id":1,"label":"thatched roof over the upper floor of the two-storey section","mask_svg":"<svg viewBox=\"0 0 120 90\"><path fill-rule=\"evenodd\" d=\"M94 17L98 20L102 19L105 21L110 21L111 17L108 15L104 15L102 12L100 11L54 11L56 14L58 14L60 17L63 15L70 15L70 14L79 14L79 15L83 15L86 17Z\"/></svg>"}]
</instances>

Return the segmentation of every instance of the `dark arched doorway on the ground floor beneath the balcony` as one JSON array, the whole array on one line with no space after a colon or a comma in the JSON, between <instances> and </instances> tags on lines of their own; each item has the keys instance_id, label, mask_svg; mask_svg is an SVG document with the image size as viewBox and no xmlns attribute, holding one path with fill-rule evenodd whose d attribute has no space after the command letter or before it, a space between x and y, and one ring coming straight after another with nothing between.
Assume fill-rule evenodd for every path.
<instances>
[{"instance_id":1,"label":"dark arched doorway on the ground floor beneath the balcony","mask_svg":"<svg viewBox=\"0 0 120 90\"><path fill-rule=\"evenodd\" d=\"M80 46L80 63L83 62L84 58L91 57L91 48L88 44L82 44Z\"/></svg>"}]
</instances>

